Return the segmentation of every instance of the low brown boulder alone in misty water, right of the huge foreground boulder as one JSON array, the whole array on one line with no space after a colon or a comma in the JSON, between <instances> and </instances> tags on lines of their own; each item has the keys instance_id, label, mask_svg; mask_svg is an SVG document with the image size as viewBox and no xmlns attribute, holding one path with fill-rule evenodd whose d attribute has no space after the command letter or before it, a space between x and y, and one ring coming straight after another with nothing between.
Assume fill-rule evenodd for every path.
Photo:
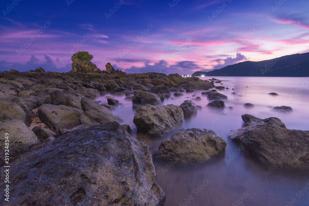
<instances>
[{"instance_id":1,"label":"low brown boulder alone in misty water, right of the huge foreground boulder","mask_svg":"<svg viewBox=\"0 0 309 206\"><path fill-rule=\"evenodd\" d=\"M226 142L214 131L207 129L181 129L161 142L154 158L188 165L204 163L224 153Z\"/></svg>"}]
</instances>

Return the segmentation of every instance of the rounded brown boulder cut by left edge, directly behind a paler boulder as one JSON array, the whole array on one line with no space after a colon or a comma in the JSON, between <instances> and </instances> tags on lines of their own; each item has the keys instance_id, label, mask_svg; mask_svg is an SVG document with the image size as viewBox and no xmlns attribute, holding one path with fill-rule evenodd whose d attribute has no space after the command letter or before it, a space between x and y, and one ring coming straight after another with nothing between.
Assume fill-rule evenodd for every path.
<instances>
[{"instance_id":1,"label":"rounded brown boulder cut by left edge, directly behind a paler boulder","mask_svg":"<svg viewBox=\"0 0 309 206\"><path fill-rule=\"evenodd\" d=\"M23 121L30 126L28 116L25 111L16 103L0 100L0 121L6 122L11 119Z\"/></svg>"}]
</instances>

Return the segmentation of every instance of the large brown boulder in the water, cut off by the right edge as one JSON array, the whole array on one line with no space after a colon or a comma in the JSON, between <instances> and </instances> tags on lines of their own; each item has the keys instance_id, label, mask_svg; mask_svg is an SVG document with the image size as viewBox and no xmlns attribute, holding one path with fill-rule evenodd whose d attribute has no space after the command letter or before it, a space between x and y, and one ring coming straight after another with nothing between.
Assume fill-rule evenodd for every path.
<instances>
[{"instance_id":1,"label":"large brown boulder in the water, cut off by the right edge","mask_svg":"<svg viewBox=\"0 0 309 206\"><path fill-rule=\"evenodd\" d=\"M248 155L266 165L309 170L309 131L281 128L261 120L232 130L229 137L242 145Z\"/></svg>"}]
</instances>

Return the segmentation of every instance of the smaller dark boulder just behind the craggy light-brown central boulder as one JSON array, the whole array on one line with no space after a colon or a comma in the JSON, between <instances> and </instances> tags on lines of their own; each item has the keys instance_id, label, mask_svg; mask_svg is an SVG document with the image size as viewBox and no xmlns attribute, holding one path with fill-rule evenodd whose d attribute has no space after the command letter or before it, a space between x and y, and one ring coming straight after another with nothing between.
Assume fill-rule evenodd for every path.
<instances>
[{"instance_id":1,"label":"smaller dark boulder just behind the craggy light-brown central boulder","mask_svg":"<svg viewBox=\"0 0 309 206\"><path fill-rule=\"evenodd\" d=\"M140 105L160 105L161 99L158 95L146 91L134 91L132 102Z\"/></svg>"}]
</instances>

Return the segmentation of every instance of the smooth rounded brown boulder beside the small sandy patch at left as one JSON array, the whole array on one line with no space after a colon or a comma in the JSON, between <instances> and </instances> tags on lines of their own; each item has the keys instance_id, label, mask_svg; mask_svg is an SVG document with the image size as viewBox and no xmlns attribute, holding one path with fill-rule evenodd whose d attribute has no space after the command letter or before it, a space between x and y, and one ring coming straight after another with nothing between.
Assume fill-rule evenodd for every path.
<instances>
[{"instance_id":1,"label":"smooth rounded brown boulder beside the small sandy patch at left","mask_svg":"<svg viewBox=\"0 0 309 206\"><path fill-rule=\"evenodd\" d=\"M64 105L43 104L38 108L39 119L52 131L70 129L80 125L82 110Z\"/></svg>"}]
</instances>

